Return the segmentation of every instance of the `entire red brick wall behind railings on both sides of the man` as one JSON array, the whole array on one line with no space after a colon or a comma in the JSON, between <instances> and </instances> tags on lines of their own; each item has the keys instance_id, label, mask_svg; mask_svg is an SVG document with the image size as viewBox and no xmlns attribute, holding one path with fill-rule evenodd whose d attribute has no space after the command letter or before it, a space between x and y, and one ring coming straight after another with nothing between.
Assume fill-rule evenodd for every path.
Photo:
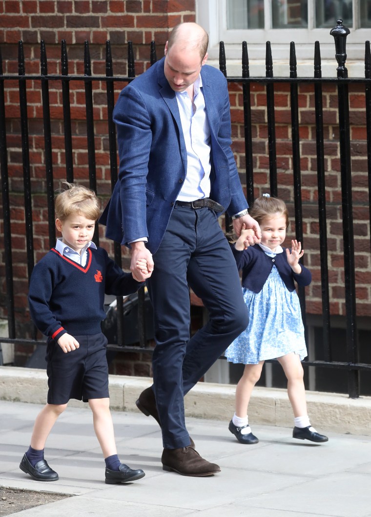
<instances>
[{"instance_id":1,"label":"entire red brick wall behind railings on both sides of the man","mask_svg":"<svg viewBox=\"0 0 371 517\"><path fill-rule=\"evenodd\" d=\"M23 40L27 74L40 73L40 40L46 42L48 71L60 72L60 41L68 43L69 73L83 74L84 41L89 41L92 74L105 74L105 41L112 44L114 74L127 74L126 42L134 44L136 73L149 66L149 43L156 41L157 57L163 55L169 29L181 21L195 20L195 0L0 0L0 48L4 74L18 73L18 41ZM250 56L251 58L252 56ZM8 171L11 203L12 258L15 276L14 293L17 326L29 325L27 310L27 266L20 132L19 90L17 81L6 81L6 118ZM115 83L117 97L124 83ZM244 171L244 127L242 89L230 84L233 150L240 172ZM87 183L88 157L86 139L85 89L81 81L70 82L74 177ZM28 124L33 191L35 260L49 249L45 196L45 153L40 81L27 82ZM50 82L52 116L53 174L55 188L66 178L62 97L58 82ZM265 88L251 86L255 194L269 191L268 142ZM110 193L108 126L105 84L93 83L94 135L98 192L105 205ZM289 87L276 85L275 114L279 196L293 199L291 113ZM351 147L354 234L356 244L357 313L371 314L371 273L369 254L367 151L364 92L350 86ZM321 286L318 244L317 164L315 144L314 92L312 85L299 87L301 170L305 264L312 270L313 282L307 290L307 311L321 313ZM344 265L341 211L340 154L338 146L337 94L334 86L324 87L324 131L330 300L332 314L345 314ZM293 216L293 205L289 205ZM293 226L294 229L294 226ZM3 224L0 221L0 239ZM101 229L101 237L103 229ZM288 232L288 239L294 234ZM1 242L0 242L1 245ZM112 253L111 242L101 245ZM5 315L5 275L3 246L0 246L1 298L0 316ZM127 256L124 266L127 267ZM136 359L141 362L138 358ZM127 358L125 359L127 360ZM133 362L134 364L134 362ZM132 372L138 368L132 364ZM126 367L125 367L126 368ZM137 368L134 369L133 368ZM146 369L146 367L144 367ZM137 372L137 373L136 373ZM143 372L144 373L144 372Z\"/></svg>"}]
</instances>

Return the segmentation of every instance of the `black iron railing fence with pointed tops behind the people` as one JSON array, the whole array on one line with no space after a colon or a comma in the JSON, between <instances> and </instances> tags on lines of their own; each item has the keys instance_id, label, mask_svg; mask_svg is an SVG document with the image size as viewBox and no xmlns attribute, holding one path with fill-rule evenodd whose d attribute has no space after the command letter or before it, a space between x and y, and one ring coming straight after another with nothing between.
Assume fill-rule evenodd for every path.
<instances>
[{"instance_id":1,"label":"black iron railing fence with pointed tops behind the people","mask_svg":"<svg viewBox=\"0 0 371 517\"><path fill-rule=\"evenodd\" d=\"M249 58L247 43L242 45L242 74L241 77L227 77L226 59L224 45L220 43L220 70L227 77L229 83L238 83L243 89L243 116L244 116L244 138L245 138L245 163L246 163L246 191L247 200L251 203L254 199L254 168L253 168L253 146L252 146L252 122L250 87L253 84L263 84L266 93L267 107L267 128L268 128L268 149L269 149L269 184L272 195L278 194L277 175L277 154L276 154L276 121L275 121L275 90L278 83L285 83L290 88L290 110L291 110L291 135L292 135L292 156L293 156L293 185L294 185L294 207L295 207L295 230L298 240L303 240L303 214L301 196L301 165L300 165L300 139L299 139L299 109L298 109L298 87L308 83L313 85L315 94L315 140L317 156L317 189L318 189L318 221L319 221L319 252L320 252L320 280L321 280L321 303L322 303L322 342L324 345L324 360L304 361L307 366L342 369L348 375L348 393L350 397L359 396L359 374L361 371L371 371L371 364L361 363L358 360L357 343L357 314L356 314L356 281L354 264L354 236L353 236L353 215L352 215L352 178L351 178L351 154L350 154L350 123L349 123L349 84L358 83L364 87L365 112L366 112L366 133L367 133L367 171L368 171L368 199L371 201L371 53L369 41L365 42L365 77L348 78L346 62L346 37L349 30L338 20L337 26L331 31L335 41L335 57L337 60L337 78L322 78L320 45L315 43L314 52L314 75L311 78L297 77L295 43L291 43L289 59L289 77L273 77L273 63L270 43L266 43L266 75L265 77L250 77ZM2 59L0 54L0 166L2 176L2 197L3 197L3 234L5 245L5 277L6 277L6 310L8 317L9 337L2 338L2 342L35 345L39 341L27 339L25 336L17 336L15 331L14 291L13 291L13 269L12 269L12 246L11 246L11 206L9 202L9 177L8 177L8 153L6 133L6 103L5 87L8 81L17 81L19 85L20 102L20 127L22 136L22 163L24 182L24 217L26 227L26 251L27 251L27 272L28 278L34 267L34 236L33 236L33 207L30 176L29 158L29 136L28 136L28 115L27 115L27 82L41 81L42 93L42 116L43 135L45 152L45 181L47 207L49 212L49 240L50 246L55 243L54 225L54 177L52 158L52 130L50 114L49 86L58 82L61 84L63 103L63 126L64 126L64 162L66 167L66 179L69 182L74 180L73 162L73 139L71 129L71 108L70 108L70 84L71 81L82 81L85 86L85 107L86 107L86 136L87 154L89 169L89 186L97 192L95 147L94 147L94 117L93 117L93 83L103 82L106 88L106 107L108 119L109 138L109 164L111 189L118 178L117 169L117 147L116 129L112 121L112 110L114 109L114 85L117 83L130 82L135 77L135 63L132 43L128 42L127 55L127 77L116 77L113 72L111 46L106 42L106 74L91 74L91 61L89 44L85 42L84 75L70 75L68 72L68 55L66 41L61 44L61 73L48 74L45 45L41 42L40 75L27 75L25 73L25 59L23 43L19 42L18 74L3 74ZM156 61L155 43L151 42L150 61ZM342 219L343 219L343 241L344 241L344 281L345 281L345 307L346 307L346 360L334 361L331 357L330 343L330 297L329 297L329 266L328 266L328 241L327 241L327 216L326 216L326 168L325 168L325 139L323 126L322 87L333 83L337 89L338 125L340 130L340 162L341 162L341 192L342 192ZM99 195L99 192L97 192ZM371 203L370 203L371 207ZM371 208L369 211L371 218ZM229 221L226 221L228 225ZM96 244L99 244L98 232L94 236ZM115 260L122 266L121 248L115 244ZM299 297L302 306L303 317L305 318L305 294L301 288ZM145 294L144 290L139 292L138 302L138 334L139 347L120 346L111 343L111 349L132 351L140 348L151 350L147 346L146 324L145 324ZM117 343L123 343L124 311L122 298L117 298Z\"/></svg>"}]
</instances>

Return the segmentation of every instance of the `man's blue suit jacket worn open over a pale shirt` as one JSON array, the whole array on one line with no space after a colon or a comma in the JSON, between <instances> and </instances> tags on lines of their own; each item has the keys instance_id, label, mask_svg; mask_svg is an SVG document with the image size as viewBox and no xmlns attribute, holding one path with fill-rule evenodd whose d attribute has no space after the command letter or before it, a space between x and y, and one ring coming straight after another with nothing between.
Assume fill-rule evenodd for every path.
<instances>
[{"instance_id":1,"label":"man's blue suit jacket worn open over a pale shirt","mask_svg":"<svg viewBox=\"0 0 371 517\"><path fill-rule=\"evenodd\" d=\"M230 215L248 207L231 150L227 81L210 66L201 69L211 130L210 197ZM148 237L155 253L187 171L187 152L178 102L164 74L164 58L128 84L114 110L120 171L100 223L123 245Z\"/></svg>"}]
</instances>

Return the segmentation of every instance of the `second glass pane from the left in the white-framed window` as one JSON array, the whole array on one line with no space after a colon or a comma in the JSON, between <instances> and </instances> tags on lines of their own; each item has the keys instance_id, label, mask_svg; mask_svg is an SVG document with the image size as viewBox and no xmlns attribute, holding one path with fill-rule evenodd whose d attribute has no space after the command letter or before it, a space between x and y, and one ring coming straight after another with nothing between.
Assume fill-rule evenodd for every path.
<instances>
[{"instance_id":1,"label":"second glass pane from the left in the white-framed window","mask_svg":"<svg viewBox=\"0 0 371 517\"><path fill-rule=\"evenodd\" d=\"M272 27L308 27L308 0L272 0Z\"/></svg>"}]
</instances>

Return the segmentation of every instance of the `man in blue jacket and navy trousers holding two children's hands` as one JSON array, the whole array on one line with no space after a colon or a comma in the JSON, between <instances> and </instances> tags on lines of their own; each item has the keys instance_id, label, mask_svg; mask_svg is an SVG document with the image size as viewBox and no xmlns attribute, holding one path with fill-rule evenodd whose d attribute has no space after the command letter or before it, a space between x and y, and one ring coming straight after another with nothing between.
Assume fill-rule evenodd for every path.
<instances>
[{"instance_id":1,"label":"man in blue jacket and navy trousers holding two children's hands","mask_svg":"<svg viewBox=\"0 0 371 517\"><path fill-rule=\"evenodd\" d=\"M120 173L101 218L106 236L130 245L132 271L146 280L154 310L153 389L138 408L163 433L163 468L208 476L184 419L184 395L248 325L236 264L217 216L225 208L241 227L248 215L231 150L227 81L205 66L208 37L196 23L176 26L165 57L121 92L114 111ZM153 255L152 255L153 254ZM135 273L146 258L148 274ZM209 321L189 339L189 287Z\"/></svg>"}]
</instances>

